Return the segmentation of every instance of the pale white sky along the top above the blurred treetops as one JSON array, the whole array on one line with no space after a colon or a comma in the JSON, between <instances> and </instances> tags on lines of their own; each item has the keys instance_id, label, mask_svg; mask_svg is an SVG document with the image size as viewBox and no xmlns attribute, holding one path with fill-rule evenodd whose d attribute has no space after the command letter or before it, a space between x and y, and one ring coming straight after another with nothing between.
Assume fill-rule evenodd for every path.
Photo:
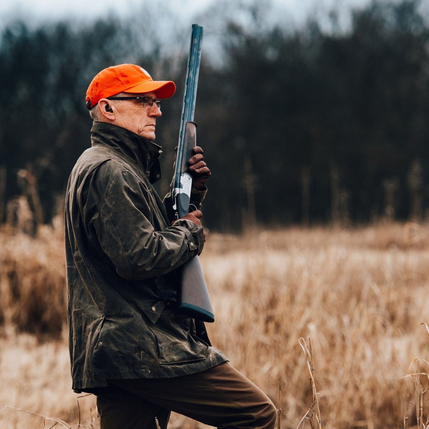
<instances>
[{"instance_id":1,"label":"pale white sky along the top above the blurred treetops","mask_svg":"<svg viewBox=\"0 0 429 429\"><path fill-rule=\"evenodd\" d=\"M296 28L305 24L308 16L316 18L324 30L331 30L329 11L338 12L341 30L350 28L350 9L360 9L371 0L257 0L271 3L272 8L266 15L272 23L281 23L284 27ZM390 1L390 0L379 0ZM399 2L401 0L393 0ZM225 12L238 3L253 3L254 0L0 0L0 28L11 18L20 17L27 22L57 21L59 19L85 20L106 17L111 12L122 18L140 16L146 8L155 21L158 30L166 33L169 27L183 27L198 23L205 27L206 37L216 33L216 19L206 21L204 12L217 7ZM429 0L421 0L420 9L429 16ZM223 14L221 14L223 15ZM163 19L168 17L169 19ZM174 22L173 20L177 17Z\"/></svg>"}]
</instances>

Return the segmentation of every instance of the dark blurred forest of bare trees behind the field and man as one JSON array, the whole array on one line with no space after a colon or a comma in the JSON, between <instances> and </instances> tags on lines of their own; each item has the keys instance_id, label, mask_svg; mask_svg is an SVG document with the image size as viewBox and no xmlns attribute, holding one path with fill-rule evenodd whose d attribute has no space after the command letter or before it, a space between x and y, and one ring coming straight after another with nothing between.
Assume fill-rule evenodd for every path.
<instances>
[{"instance_id":1,"label":"dark blurred forest of bare trees behind the field and man","mask_svg":"<svg viewBox=\"0 0 429 429\"><path fill-rule=\"evenodd\" d=\"M269 1L231 3L195 20L205 27L195 121L213 172L205 225L428 216L429 20L420 2L374 1L350 11L345 29L335 10L328 25L308 18L290 28L269 22ZM3 24L0 222L20 210L50 222L62 209L69 173L90 145L85 91L119 63L176 82L157 122L166 192L190 27L168 14L157 24L153 13Z\"/></svg>"}]
</instances>

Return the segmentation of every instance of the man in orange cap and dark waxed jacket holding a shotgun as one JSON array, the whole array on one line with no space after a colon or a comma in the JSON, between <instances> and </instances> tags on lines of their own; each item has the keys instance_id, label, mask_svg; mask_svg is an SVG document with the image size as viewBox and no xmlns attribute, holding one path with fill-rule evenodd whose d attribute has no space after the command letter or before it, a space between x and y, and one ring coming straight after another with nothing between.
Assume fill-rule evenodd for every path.
<instances>
[{"instance_id":1,"label":"man in orange cap and dark waxed jacket holding a shotgun","mask_svg":"<svg viewBox=\"0 0 429 429\"><path fill-rule=\"evenodd\" d=\"M205 234L201 211L169 218L152 187L159 99L174 92L132 64L89 85L91 148L69 178L65 210L73 389L97 395L102 429L166 427L170 410L211 426L272 428L272 402L211 347L202 322L175 310L175 269L202 251ZM199 209L210 175L201 148L189 164Z\"/></svg>"}]
</instances>

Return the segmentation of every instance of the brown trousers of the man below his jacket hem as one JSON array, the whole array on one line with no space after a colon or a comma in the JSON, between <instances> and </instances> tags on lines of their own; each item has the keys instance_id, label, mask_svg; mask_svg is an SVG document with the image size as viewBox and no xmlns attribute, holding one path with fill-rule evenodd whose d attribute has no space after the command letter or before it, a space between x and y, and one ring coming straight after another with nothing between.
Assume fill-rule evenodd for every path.
<instances>
[{"instance_id":1,"label":"brown trousers of the man below his jacket hem","mask_svg":"<svg viewBox=\"0 0 429 429\"><path fill-rule=\"evenodd\" d=\"M277 410L268 396L229 363L173 378L109 380L97 396L101 429L166 428L169 411L224 429L272 429ZM157 417L157 420L155 420Z\"/></svg>"}]
</instances>

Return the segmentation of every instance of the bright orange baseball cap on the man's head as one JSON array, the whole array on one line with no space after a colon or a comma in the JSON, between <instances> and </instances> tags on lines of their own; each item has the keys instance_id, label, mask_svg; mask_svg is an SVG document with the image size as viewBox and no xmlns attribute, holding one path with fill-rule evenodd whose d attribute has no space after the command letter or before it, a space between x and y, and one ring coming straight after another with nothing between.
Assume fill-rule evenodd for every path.
<instances>
[{"instance_id":1,"label":"bright orange baseball cap on the man's head","mask_svg":"<svg viewBox=\"0 0 429 429\"><path fill-rule=\"evenodd\" d=\"M142 67L119 64L101 70L86 91L86 106L91 110L101 98L112 97L120 92L143 94L154 92L157 98L169 98L176 91L172 81L154 81Z\"/></svg>"}]
</instances>

